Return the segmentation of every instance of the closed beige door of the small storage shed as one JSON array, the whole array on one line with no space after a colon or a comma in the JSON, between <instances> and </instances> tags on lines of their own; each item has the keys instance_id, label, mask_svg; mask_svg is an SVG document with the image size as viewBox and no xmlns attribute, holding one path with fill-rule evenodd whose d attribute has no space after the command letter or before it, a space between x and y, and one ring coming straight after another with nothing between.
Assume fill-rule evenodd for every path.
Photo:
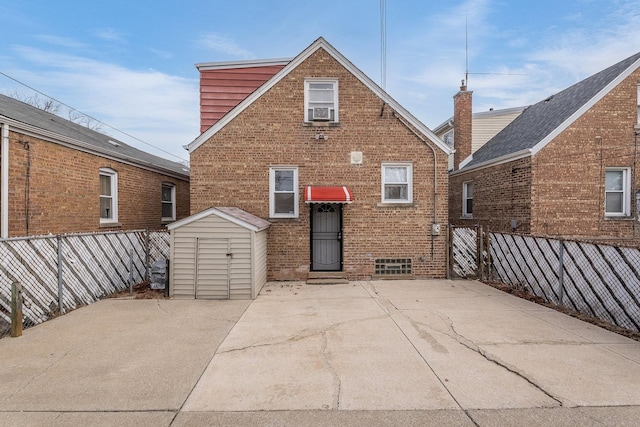
<instances>
[{"instance_id":1,"label":"closed beige door of the small storage shed","mask_svg":"<svg viewBox=\"0 0 640 427\"><path fill-rule=\"evenodd\" d=\"M229 299L229 239L198 238L196 299Z\"/></svg>"}]
</instances>

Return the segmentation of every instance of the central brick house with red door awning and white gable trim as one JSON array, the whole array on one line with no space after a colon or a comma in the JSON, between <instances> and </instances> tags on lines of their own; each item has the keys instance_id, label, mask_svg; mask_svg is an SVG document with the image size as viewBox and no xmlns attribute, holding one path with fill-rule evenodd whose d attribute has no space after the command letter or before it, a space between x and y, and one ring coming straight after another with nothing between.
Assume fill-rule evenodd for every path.
<instances>
[{"instance_id":1,"label":"central brick house with red door awning and white gable trim","mask_svg":"<svg viewBox=\"0 0 640 427\"><path fill-rule=\"evenodd\" d=\"M291 60L220 63L231 89L204 87L218 68L198 65L203 104L260 66L272 76L188 146L191 213L271 222L269 280L444 277L449 148L322 38Z\"/></svg>"}]
</instances>

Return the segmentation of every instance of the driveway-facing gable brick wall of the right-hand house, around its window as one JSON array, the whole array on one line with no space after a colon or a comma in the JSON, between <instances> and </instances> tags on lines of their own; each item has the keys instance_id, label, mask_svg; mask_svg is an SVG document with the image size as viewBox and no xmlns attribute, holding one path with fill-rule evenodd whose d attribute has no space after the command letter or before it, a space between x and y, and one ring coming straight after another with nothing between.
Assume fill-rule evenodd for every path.
<instances>
[{"instance_id":1,"label":"driveway-facing gable brick wall of the right-hand house, around its window","mask_svg":"<svg viewBox=\"0 0 640 427\"><path fill-rule=\"evenodd\" d=\"M631 217L605 218L604 175L607 167L628 167L635 180L631 192L640 189L634 166L639 82L636 71L535 156L533 233L581 239L634 237L635 197L632 194Z\"/></svg>"}]
</instances>

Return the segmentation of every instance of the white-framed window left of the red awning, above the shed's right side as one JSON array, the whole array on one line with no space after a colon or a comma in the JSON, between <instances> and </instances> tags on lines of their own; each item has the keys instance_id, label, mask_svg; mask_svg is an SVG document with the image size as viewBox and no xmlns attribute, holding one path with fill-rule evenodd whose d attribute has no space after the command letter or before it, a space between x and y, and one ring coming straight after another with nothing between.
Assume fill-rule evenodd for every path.
<instances>
[{"instance_id":1,"label":"white-framed window left of the red awning, above the shed's right side","mask_svg":"<svg viewBox=\"0 0 640 427\"><path fill-rule=\"evenodd\" d=\"M298 168L272 167L269 170L269 216L298 217Z\"/></svg>"}]
</instances>

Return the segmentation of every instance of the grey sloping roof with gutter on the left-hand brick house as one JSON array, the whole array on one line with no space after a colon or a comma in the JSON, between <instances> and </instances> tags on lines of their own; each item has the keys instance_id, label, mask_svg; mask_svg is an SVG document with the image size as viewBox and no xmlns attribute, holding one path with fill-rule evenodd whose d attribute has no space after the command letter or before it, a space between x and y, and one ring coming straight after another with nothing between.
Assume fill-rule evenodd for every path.
<instances>
[{"instance_id":1,"label":"grey sloping roof with gutter on the left-hand brick house","mask_svg":"<svg viewBox=\"0 0 640 427\"><path fill-rule=\"evenodd\" d=\"M189 168L181 163L138 150L108 135L5 95L0 95L0 122L76 150L175 178L189 179Z\"/></svg>"}]
</instances>

